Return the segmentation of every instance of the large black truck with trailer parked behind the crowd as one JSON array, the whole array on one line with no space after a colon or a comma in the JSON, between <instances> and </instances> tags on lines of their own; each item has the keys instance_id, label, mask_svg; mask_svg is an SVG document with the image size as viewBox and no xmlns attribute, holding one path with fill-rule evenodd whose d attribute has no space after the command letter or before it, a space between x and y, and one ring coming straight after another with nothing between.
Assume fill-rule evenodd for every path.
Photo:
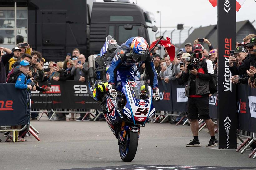
<instances>
[{"instance_id":1,"label":"large black truck with trailer parked behind the crowd","mask_svg":"<svg viewBox=\"0 0 256 170\"><path fill-rule=\"evenodd\" d=\"M118 44L133 36L142 36L149 44L155 40L154 18L129 2L0 0L0 6L14 9L14 2L17 9L27 8L28 43L47 61L63 60L74 48L85 56L98 54L107 35Z\"/></svg>"}]
</instances>

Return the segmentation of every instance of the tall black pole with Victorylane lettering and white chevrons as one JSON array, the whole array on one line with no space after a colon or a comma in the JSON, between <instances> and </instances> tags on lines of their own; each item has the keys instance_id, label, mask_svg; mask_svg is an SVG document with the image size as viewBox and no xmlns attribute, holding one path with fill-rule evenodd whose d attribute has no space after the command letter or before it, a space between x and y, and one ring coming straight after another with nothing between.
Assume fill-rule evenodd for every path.
<instances>
[{"instance_id":1,"label":"tall black pole with Victorylane lettering and white chevrons","mask_svg":"<svg viewBox=\"0 0 256 170\"><path fill-rule=\"evenodd\" d=\"M229 70L236 42L236 1L218 0L218 148L236 148L236 89Z\"/></svg>"}]
</instances>

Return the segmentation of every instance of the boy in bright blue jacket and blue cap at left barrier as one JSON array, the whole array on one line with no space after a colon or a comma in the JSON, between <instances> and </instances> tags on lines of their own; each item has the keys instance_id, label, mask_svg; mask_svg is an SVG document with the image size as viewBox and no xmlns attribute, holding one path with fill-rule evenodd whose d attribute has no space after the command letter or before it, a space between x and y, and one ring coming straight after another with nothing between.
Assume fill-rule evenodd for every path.
<instances>
[{"instance_id":1,"label":"boy in bright blue jacket and blue cap at left barrier","mask_svg":"<svg viewBox=\"0 0 256 170\"><path fill-rule=\"evenodd\" d=\"M31 83L31 81L34 79L33 77L30 79L26 79L25 74L29 71L29 62L26 60L23 60L20 62L20 71L21 74L18 76L18 79L15 83L15 88L17 89L27 89L29 88L30 90L32 89L31 85L28 85L27 83Z\"/></svg>"}]
</instances>

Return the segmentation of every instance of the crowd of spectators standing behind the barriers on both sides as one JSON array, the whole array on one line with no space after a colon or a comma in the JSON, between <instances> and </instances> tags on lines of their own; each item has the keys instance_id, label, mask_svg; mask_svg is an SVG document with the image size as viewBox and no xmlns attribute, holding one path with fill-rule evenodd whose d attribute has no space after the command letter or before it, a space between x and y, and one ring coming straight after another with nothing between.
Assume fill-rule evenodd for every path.
<instances>
[{"instance_id":1,"label":"crowd of spectators standing behind the barriers on both sides","mask_svg":"<svg viewBox=\"0 0 256 170\"><path fill-rule=\"evenodd\" d=\"M229 57L229 69L232 72L232 82L234 84L243 83L249 84L252 88L256 87L256 35L247 35L242 43L236 43L234 54ZM179 85L186 84L184 81L185 74L188 73L187 66L191 59L195 56L195 50L202 53L206 63L213 66L213 72L217 73L218 51L214 49L208 39L203 39L202 43L208 44L208 48L204 48L199 42L199 39L194 40L194 44L188 42L184 48L180 48L175 55L173 61L165 50L163 56L159 55L158 47L155 48L153 54L153 61L155 70L157 71L158 81L164 85L168 85L171 81L177 81ZM200 48L199 48L200 47ZM17 44L16 47L11 49L0 47L0 83L16 83L16 88L29 88L30 90L50 91L51 88L41 88L38 82L46 81L66 81L78 80L81 82L86 81L88 64L86 56L80 53L78 48L73 49L72 54L68 53L64 61L57 63L49 61L49 68L44 68L45 59L42 53L34 51L27 42ZM140 67L140 74L143 80L150 83L149 76L145 70L145 65ZM194 74L193 70L189 71ZM208 70L209 72L209 70ZM23 74L24 76L23 76ZM199 73L196 74L199 76ZM25 82L18 81L25 80ZM72 111L71 111L72 112ZM74 111L75 112L75 111ZM75 113L71 113L71 117L66 119L65 114L58 114L56 120L67 121L81 121L84 114L75 119ZM51 115L51 114L49 114ZM31 119L36 120L38 113L31 113ZM89 120L89 118L86 118ZM198 138L196 138L198 140ZM22 140L22 139L21 139Z\"/></svg>"}]
</instances>

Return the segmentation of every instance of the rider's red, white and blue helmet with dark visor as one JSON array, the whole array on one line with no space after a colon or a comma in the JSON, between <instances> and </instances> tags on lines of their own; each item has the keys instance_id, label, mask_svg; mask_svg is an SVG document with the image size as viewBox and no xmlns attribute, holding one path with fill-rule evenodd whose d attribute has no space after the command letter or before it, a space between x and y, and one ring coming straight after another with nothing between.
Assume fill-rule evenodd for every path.
<instances>
[{"instance_id":1,"label":"rider's red, white and blue helmet with dark visor","mask_svg":"<svg viewBox=\"0 0 256 170\"><path fill-rule=\"evenodd\" d=\"M131 56L136 62L144 62L147 59L149 45L143 37L134 37L131 42Z\"/></svg>"}]
</instances>

